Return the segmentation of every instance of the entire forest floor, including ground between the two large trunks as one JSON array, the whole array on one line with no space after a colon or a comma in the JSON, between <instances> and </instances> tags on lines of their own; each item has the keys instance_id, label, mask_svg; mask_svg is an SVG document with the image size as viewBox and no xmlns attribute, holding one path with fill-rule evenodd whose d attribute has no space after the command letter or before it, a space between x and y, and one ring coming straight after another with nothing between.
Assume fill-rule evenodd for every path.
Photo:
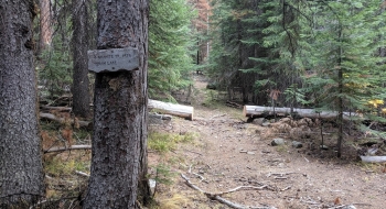
<instances>
[{"instance_id":1,"label":"entire forest floor, including ground between the two large trunks","mask_svg":"<svg viewBox=\"0 0 386 209\"><path fill-rule=\"evenodd\" d=\"M357 151L368 148L363 146L368 135L345 130L343 154L336 158L333 122L323 122L328 148L321 150L320 122L247 123L243 106L225 106L224 94L206 89L204 76L194 75L194 80L191 94L175 97L194 107L193 121L173 117L149 124L149 177L157 180L157 204L149 209L386 208L386 164L357 160ZM42 120L41 128L44 150L90 144L89 130L51 120ZM278 138L286 143L272 146ZM293 147L293 141L302 147ZM385 156L386 143L378 145L376 154ZM88 148L45 153L47 201L40 208L82 208L89 168Z\"/></svg>"}]
</instances>

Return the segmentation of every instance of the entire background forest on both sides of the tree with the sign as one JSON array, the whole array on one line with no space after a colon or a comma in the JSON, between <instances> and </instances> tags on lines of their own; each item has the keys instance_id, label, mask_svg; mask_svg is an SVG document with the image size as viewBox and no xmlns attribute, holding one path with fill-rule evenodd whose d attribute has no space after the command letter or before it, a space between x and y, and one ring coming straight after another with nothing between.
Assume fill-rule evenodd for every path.
<instances>
[{"instance_id":1,"label":"entire background forest on both sides of the tree with the sign","mask_svg":"<svg viewBox=\"0 0 386 209\"><path fill-rule=\"evenodd\" d=\"M93 75L86 76L89 85L76 80L87 59L76 52L95 48L95 4L92 0L40 2L36 70L41 98L47 105L73 92L76 113L77 100L84 106L93 101ZM337 111L341 129L344 111L382 122L385 6L379 0L151 1L149 96L175 101L173 95L183 91L189 98L192 74L203 73L211 79L208 88L224 92L225 100ZM77 26L84 29L81 40ZM79 59L85 64L77 66ZM87 87L86 96L75 97Z\"/></svg>"}]
</instances>

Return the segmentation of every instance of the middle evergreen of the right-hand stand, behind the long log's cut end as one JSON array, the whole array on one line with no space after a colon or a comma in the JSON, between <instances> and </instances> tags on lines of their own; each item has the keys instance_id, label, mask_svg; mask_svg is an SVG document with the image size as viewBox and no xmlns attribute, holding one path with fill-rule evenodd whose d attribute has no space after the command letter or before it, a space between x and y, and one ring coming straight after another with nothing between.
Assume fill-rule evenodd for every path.
<instances>
[{"instance_id":1,"label":"middle evergreen of the right-hand stand, behind the long log's cut end","mask_svg":"<svg viewBox=\"0 0 386 209\"><path fill-rule=\"evenodd\" d=\"M301 51L304 45L300 34L301 29L309 30L307 24L310 22L309 16L302 12L304 4L300 0L261 1L261 14L245 20L258 23L258 26L249 32L259 35L244 42L259 45L264 53L249 57L256 64L244 72L260 75L255 88L259 92L270 92L267 99L271 100L274 106L278 102L293 108L298 101L304 103L304 100L298 97L298 85L302 84Z\"/></svg>"}]
</instances>

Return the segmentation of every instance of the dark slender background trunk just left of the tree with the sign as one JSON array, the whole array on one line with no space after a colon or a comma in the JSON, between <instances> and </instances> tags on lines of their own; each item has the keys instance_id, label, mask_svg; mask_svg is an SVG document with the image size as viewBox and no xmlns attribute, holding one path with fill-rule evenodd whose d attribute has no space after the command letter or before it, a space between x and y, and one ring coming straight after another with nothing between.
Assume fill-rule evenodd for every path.
<instances>
[{"instance_id":1,"label":"dark slender background trunk just left of the tree with the sign","mask_svg":"<svg viewBox=\"0 0 386 209\"><path fill-rule=\"evenodd\" d=\"M88 118L88 6L87 1L73 0L73 112L76 117Z\"/></svg>"}]
</instances>

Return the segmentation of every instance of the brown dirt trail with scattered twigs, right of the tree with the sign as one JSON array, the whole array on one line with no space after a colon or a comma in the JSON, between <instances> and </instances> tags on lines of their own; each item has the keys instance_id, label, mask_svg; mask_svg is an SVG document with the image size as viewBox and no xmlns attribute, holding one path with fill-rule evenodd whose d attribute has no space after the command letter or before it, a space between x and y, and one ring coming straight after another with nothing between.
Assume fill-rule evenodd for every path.
<instances>
[{"instance_id":1,"label":"brown dirt trail with scattered twigs, right of the tree with the sign","mask_svg":"<svg viewBox=\"0 0 386 209\"><path fill-rule=\"evenodd\" d=\"M195 76L193 121L173 118L150 125L151 132L194 135L169 153L149 150L151 176L164 175L157 169L160 165L174 174L164 175L172 184L157 186L160 208L386 208L385 164L357 160L361 134L346 136L343 156L336 158L333 125L324 124L329 148L320 150L320 124L309 124L304 136L291 131L293 124L289 130L278 128L280 122L246 123L242 109L213 101L215 91L205 89L206 85L203 76ZM275 138L286 143L272 146ZM293 147L293 140L303 146ZM236 187L239 190L227 193Z\"/></svg>"}]
</instances>

